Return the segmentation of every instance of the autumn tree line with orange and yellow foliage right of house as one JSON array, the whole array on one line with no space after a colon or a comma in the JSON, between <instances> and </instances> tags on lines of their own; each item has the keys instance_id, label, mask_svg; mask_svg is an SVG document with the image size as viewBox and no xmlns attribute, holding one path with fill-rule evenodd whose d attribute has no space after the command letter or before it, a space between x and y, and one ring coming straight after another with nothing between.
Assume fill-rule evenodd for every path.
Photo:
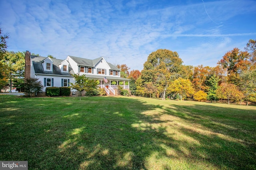
<instances>
[{"instance_id":1,"label":"autumn tree line with orange and yellow foliage right of house","mask_svg":"<svg viewBox=\"0 0 256 170\"><path fill-rule=\"evenodd\" d=\"M256 40L250 39L244 51L236 47L228 51L215 67L182 63L177 52L158 49L141 72L129 72L126 64L118 68L131 79L130 90L136 96L256 102Z\"/></svg>"}]
</instances>

